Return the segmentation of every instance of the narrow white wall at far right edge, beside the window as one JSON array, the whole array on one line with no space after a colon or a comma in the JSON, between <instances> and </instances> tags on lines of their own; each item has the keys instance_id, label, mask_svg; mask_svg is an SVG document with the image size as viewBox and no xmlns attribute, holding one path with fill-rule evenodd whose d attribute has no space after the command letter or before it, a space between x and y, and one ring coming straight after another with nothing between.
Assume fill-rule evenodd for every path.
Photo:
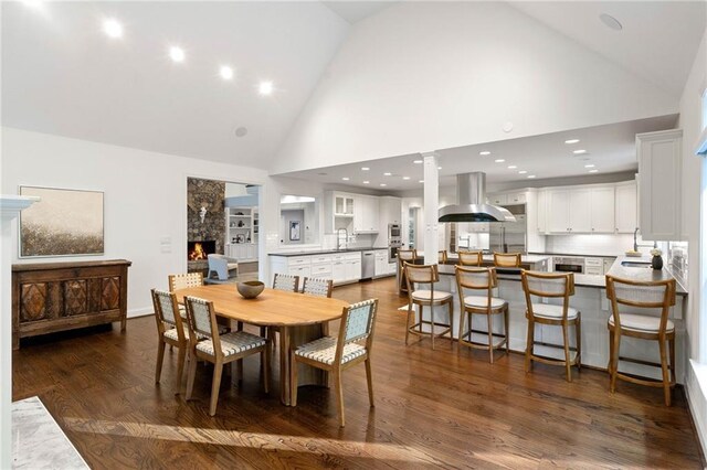
<instances>
[{"instance_id":1,"label":"narrow white wall at far right edge, beside the window","mask_svg":"<svg viewBox=\"0 0 707 470\"><path fill-rule=\"evenodd\" d=\"M699 51L690 75L685 84L685 90L680 99L679 127L683 129L683 233L689 242L688 250L688 285L687 314L685 319L685 350L687 356L695 361L685 364L687 371L686 385L689 405L695 419L695 426L703 444L703 450L707 452L707 299L704 292L706 279L703 239L705 233L700 233L700 216L703 214L703 227L707 224L705 214L707 207L707 164L705 159L695 154L695 146L701 133L701 100L700 95L707 85L707 32L703 36ZM701 306L701 308L700 308ZM700 333L701 331L701 333ZM701 366L697 363L701 362ZM701 386L700 386L701 381Z\"/></svg>"}]
</instances>

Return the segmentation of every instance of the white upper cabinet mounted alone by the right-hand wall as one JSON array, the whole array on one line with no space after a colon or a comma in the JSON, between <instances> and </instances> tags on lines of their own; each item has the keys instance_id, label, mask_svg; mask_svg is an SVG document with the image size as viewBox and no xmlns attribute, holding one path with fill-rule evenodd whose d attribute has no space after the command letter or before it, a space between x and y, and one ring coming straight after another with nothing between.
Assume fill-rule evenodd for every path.
<instances>
[{"instance_id":1,"label":"white upper cabinet mounted alone by the right-hand wall","mask_svg":"<svg viewBox=\"0 0 707 470\"><path fill-rule=\"evenodd\" d=\"M680 231L680 129L636 135L641 235L650 241L684 239Z\"/></svg>"}]
</instances>

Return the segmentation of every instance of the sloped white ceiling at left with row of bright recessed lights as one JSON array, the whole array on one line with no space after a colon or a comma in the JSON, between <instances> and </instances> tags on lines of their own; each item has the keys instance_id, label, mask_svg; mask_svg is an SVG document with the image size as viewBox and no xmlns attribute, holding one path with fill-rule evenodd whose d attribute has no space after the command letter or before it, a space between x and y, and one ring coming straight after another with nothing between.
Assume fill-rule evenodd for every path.
<instances>
[{"instance_id":1,"label":"sloped white ceiling at left with row of bright recessed lights","mask_svg":"<svg viewBox=\"0 0 707 470\"><path fill-rule=\"evenodd\" d=\"M4 126L255 168L267 168L350 28L320 2L1 7ZM122 40L102 32L109 17ZM172 44L184 63L167 56ZM261 81L272 96L258 95Z\"/></svg>"}]
</instances>

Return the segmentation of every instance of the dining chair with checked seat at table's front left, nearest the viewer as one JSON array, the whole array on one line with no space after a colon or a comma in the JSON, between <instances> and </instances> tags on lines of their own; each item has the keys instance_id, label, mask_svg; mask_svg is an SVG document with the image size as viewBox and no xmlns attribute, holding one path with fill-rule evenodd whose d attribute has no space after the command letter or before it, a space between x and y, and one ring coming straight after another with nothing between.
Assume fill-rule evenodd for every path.
<instances>
[{"instance_id":1,"label":"dining chair with checked seat at table's front left, nearest the viewer","mask_svg":"<svg viewBox=\"0 0 707 470\"><path fill-rule=\"evenodd\" d=\"M208 361L213 364L211 400L209 404L209 415L213 416L217 413L223 366L256 353L261 354L263 388L265 393L268 393L271 361L267 340L245 331L220 334L213 302L189 296L184 297L184 301L187 303L187 317L189 318L191 354L189 377L187 380L187 400L191 399L193 392L197 360ZM203 340L198 341L198 334L203 335Z\"/></svg>"}]
</instances>

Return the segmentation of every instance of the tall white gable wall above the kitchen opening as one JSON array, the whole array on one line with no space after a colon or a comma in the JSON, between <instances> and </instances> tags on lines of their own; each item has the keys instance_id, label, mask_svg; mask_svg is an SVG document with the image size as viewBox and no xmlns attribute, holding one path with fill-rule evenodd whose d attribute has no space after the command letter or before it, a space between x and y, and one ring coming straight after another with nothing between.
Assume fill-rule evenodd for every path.
<instances>
[{"instance_id":1,"label":"tall white gable wall above the kitchen opening","mask_svg":"<svg viewBox=\"0 0 707 470\"><path fill-rule=\"evenodd\" d=\"M676 111L677 98L503 2L399 2L351 29L271 170Z\"/></svg>"}]
</instances>

